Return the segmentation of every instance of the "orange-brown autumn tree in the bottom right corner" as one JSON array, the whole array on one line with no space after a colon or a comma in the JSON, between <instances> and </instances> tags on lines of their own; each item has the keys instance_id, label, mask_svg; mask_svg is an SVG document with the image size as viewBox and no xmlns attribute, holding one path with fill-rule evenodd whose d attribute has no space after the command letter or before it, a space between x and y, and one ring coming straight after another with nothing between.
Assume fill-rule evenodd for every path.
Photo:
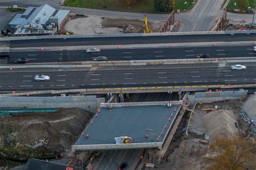
<instances>
[{"instance_id":1,"label":"orange-brown autumn tree in the bottom right corner","mask_svg":"<svg viewBox=\"0 0 256 170\"><path fill-rule=\"evenodd\" d=\"M256 155L252 153L255 149L253 140L216 138L215 143L210 145L210 151L217 153L215 162L209 169L244 169L246 163L256 161Z\"/></svg>"}]
</instances>

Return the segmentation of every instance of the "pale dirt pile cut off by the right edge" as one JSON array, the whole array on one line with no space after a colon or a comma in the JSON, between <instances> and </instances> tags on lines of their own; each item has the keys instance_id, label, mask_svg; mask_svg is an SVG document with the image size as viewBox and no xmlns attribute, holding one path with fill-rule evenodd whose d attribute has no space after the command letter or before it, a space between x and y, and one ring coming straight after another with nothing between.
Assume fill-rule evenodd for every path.
<instances>
[{"instance_id":1,"label":"pale dirt pile cut off by the right edge","mask_svg":"<svg viewBox=\"0 0 256 170\"><path fill-rule=\"evenodd\" d=\"M256 121L256 95L249 96L244 102L242 108L246 111L246 114L250 117L250 119Z\"/></svg>"}]
</instances>

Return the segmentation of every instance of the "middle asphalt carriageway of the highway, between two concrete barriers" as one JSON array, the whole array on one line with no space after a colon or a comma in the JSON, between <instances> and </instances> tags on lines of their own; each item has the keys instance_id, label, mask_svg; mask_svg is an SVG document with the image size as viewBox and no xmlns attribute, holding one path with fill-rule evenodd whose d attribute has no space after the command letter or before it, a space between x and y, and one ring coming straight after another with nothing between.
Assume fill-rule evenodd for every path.
<instances>
[{"instance_id":1,"label":"middle asphalt carriageway of the highway, between two concrete barriers","mask_svg":"<svg viewBox=\"0 0 256 170\"><path fill-rule=\"evenodd\" d=\"M101 53L76 51L14 51L10 52L8 63L18 58L28 58L33 62L75 62L91 61L92 57L107 56L114 60L164 60L195 59L197 54L208 53L211 58L233 58L256 56L253 46L213 46L213 47L166 47L166 48L128 48L103 49Z\"/></svg>"}]
</instances>

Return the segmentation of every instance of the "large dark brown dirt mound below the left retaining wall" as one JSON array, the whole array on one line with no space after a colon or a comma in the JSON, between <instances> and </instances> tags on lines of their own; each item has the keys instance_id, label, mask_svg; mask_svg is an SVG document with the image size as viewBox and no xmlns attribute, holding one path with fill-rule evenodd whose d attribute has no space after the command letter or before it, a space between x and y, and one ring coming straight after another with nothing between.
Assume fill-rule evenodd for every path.
<instances>
[{"instance_id":1,"label":"large dark brown dirt mound below the left retaining wall","mask_svg":"<svg viewBox=\"0 0 256 170\"><path fill-rule=\"evenodd\" d=\"M69 148L79 133L85 128L91 115L81 109L63 109L2 118L0 120L0 147L17 144L35 145L41 138L48 140L52 149L63 146Z\"/></svg>"}]
</instances>

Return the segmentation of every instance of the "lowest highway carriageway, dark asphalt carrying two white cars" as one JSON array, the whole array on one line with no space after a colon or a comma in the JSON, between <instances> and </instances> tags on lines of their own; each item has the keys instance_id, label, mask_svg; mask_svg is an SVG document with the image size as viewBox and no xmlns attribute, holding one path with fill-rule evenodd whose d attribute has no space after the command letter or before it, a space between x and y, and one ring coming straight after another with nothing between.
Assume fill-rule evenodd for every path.
<instances>
[{"instance_id":1,"label":"lowest highway carriageway, dark asphalt carrying two white cars","mask_svg":"<svg viewBox=\"0 0 256 170\"><path fill-rule=\"evenodd\" d=\"M0 69L0 90L57 90L155 86L200 86L256 84L256 62L242 63L246 70L232 70L238 63L105 67L89 69ZM44 74L50 81L37 82Z\"/></svg>"}]
</instances>

